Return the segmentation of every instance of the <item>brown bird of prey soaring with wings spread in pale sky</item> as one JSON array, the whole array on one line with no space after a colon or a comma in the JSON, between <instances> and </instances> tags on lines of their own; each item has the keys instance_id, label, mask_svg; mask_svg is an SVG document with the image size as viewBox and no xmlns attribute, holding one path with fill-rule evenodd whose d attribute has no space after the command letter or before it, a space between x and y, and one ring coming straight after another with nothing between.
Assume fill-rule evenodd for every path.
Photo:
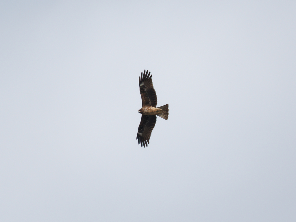
<instances>
[{"instance_id":1,"label":"brown bird of prey soaring with wings spread in pale sky","mask_svg":"<svg viewBox=\"0 0 296 222\"><path fill-rule=\"evenodd\" d=\"M148 147L151 132L156 123L156 115L168 120L168 104L156 108L157 96L151 77L152 75L150 75L150 72L148 73L148 70L144 70L144 75L141 72L141 77L139 77L142 108L138 112L142 114L142 118L138 128L137 140L139 144L141 142L141 147L143 145L145 147L145 144Z\"/></svg>"}]
</instances>

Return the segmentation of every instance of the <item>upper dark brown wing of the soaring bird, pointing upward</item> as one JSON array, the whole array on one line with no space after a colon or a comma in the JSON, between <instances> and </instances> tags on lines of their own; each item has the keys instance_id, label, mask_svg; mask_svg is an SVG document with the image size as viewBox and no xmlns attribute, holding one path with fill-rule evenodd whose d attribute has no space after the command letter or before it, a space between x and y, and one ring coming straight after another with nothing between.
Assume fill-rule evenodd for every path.
<instances>
[{"instance_id":1,"label":"upper dark brown wing of the soaring bird, pointing upward","mask_svg":"<svg viewBox=\"0 0 296 222\"><path fill-rule=\"evenodd\" d=\"M145 73L146 72L146 73ZM156 107L157 105L157 96L156 92L153 88L153 83L151 79L152 75L150 72L148 74L148 70L144 70L141 73L141 78L139 77L139 86L140 86L140 93L142 98L142 107L150 105L152 107Z\"/></svg>"}]
</instances>

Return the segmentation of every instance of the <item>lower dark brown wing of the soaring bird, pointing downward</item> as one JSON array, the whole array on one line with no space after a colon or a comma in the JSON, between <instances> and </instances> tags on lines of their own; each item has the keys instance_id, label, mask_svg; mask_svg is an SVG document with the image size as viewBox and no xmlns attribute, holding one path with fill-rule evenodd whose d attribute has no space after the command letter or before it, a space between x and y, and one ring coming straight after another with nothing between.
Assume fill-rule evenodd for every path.
<instances>
[{"instance_id":1,"label":"lower dark brown wing of the soaring bird, pointing downward","mask_svg":"<svg viewBox=\"0 0 296 222\"><path fill-rule=\"evenodd\" d=\"M137 140L141 147L148 147L151 132L156 123L156 115L142 115L141 122L138 128ZM148 144L147 144L148 142Z\"/></svg>"}]
</instances>

